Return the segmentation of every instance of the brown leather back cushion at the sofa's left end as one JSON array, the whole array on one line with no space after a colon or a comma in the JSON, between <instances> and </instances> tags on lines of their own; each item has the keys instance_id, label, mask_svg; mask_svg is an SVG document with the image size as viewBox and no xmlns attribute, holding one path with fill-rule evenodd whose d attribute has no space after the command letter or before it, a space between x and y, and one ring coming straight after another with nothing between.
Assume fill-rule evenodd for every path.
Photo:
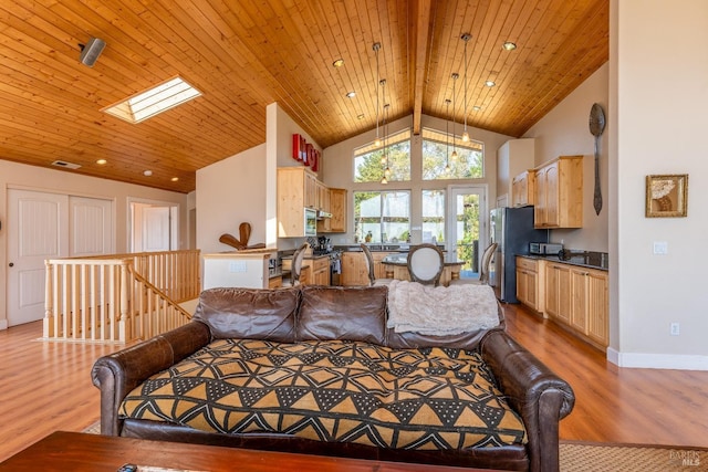
<instances>
[{"instance_id":1,"label":"brown leather back cushion at the sofa's left end","mask_svg":"<svg viewBox=\"0 0 708 472\"><path fill-rule=\"evenodd\" d=\"M195 319L214 339L295 340L300 289L209 289L199 295Z\"/></svg>"}]
</instances>

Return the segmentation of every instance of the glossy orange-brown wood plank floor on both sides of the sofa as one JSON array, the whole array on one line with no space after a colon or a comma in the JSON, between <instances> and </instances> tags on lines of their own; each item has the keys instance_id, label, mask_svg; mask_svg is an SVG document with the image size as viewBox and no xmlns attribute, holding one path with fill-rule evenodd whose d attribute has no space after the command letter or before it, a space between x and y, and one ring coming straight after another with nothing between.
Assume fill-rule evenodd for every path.
<instances>
[{"instance_id":1,"label":"glossy orange-brown wood plank floor on both sides of the sofa","mask_svg":"<svg viewBox=\"0 0 708 472\"><path fill-rule=\"evenodd\" d=\"M623 369L520 305L509 333L575 390L561 439L708 447L708 373ZM52 431L98 420L91 366L119 346L35 340L41 322L0 331L0 461Z\"/></svg>"}]
</instances>

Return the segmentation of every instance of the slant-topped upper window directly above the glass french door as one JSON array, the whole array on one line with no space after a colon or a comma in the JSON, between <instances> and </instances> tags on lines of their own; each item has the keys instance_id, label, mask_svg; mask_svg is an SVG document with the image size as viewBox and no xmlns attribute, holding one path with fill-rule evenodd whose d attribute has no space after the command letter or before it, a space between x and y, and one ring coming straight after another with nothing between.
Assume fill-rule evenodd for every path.
<instances>
[{"instance_id":1,"label":"slant-topped upper window directly above the glass french door","mask_svg":"<svg viewBox=\"0 0 708 472\"><path fill-rule=\"evenodd\" d=\"M462 143L454 135L423 128L423 180L480 179L485 177L485 145ZM457 157L452 156L457 153ZM449 168L449 171L446 169Z\"/></svg>"}]
</instances>

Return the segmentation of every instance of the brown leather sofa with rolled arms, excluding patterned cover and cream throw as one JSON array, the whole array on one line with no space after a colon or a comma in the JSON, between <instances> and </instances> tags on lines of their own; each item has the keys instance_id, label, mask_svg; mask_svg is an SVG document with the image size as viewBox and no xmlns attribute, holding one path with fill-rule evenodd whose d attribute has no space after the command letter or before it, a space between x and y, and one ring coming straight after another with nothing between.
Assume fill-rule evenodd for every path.
<instances>
[{"instance_id":1,"label":"brown leather sofa with rolled arms, excluding patterned cover and cream throw","mask_svg":"<svg viewBox=\"0 0 708 472\"><path fill-rule=\"evenodd\" d=\"M500 324L491 329L446 337L395 333L386 328L387 291L385 286L205 291L195 319L189 324L104 356L95 363L92 377L101 389L101 431L107 436L361 459L558 471L559 421L571 412L574 394L564 380L508 336L501 310ZM126 415L126 405L129 409L137 401L132 395L139 396L140 388L154 389L145 387L150 378L179 370L176 366L214 343L232 343L235 339L237 344L263 342L271 347L285 348L292 348L293 344L301 347L317 343L354 343L364 348L383 346L386 353L394 355L403 349L413 349L423 356L445 352L452 353L457 364L461 363L459 359L464 355L476 355L493 376L491 380L499 391L499 399L516 412L514 417L521 419L525 429L524 441L470 448L400 449L356 441L321 441L268 431L205 431L158 420L152 412L143 417L134 415L135 411ZM134 410L145 412L156 403L150 405Z\"/></svg>"}]
</instances>

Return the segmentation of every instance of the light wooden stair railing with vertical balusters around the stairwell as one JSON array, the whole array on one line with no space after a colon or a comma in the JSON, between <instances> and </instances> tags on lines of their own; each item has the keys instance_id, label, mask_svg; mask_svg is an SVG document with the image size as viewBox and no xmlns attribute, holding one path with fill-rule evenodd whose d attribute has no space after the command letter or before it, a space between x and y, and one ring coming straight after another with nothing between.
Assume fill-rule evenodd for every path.
<instances>
[{"instance_id":1,"label":"light wooden stair railing with vertical balusters around the stairwell","mask_svg":"<svg viewBox=\"0 0 708 472\"><path fill-rule=\"evenodd\" d=\"M199 291L199 251L49 260L43 338L146 339L187 323Z\"/></svg>"}]
</instances>

